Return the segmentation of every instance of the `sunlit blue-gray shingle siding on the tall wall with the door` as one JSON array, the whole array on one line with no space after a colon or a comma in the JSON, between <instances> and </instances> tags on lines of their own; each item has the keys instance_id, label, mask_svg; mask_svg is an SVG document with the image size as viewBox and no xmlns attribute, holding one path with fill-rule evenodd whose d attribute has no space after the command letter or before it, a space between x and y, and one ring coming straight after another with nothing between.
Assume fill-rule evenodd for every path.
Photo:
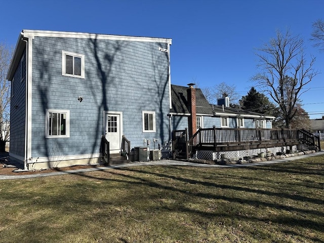
<instances>
[{"instance_id":1,"label":"sunlit blue-gray shingle siding on the tall wall with the door","mask_svg":"<svg viewBox=\"0 0 324 243\"><path fill-rule=\"evenodd\" d=\"M132 147L142 146L143 139L167 142L168 54L159 47L167 44L35 37L32 156L98 153L103 111L123 112L123 132ZM62 75L62 50L85 55L85 78ZM70 110L70 138L45 138L48 108ZM156 112L156 133L142 132L143 110Z\"/></svg>"}]
</instances>

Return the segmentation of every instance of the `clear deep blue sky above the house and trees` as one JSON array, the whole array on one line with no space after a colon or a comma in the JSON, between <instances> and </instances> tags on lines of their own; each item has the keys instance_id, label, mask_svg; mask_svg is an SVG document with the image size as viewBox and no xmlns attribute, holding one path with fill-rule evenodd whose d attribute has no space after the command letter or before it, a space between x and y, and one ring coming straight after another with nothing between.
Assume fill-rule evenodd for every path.
<instances>
[{"instance_id":1,"label":"clear deep blue sky above the house and trees","mask_svg":"<svg viewBox=\"0 0 324 243\"><path fill-rule=\"evenodd\" d=\"M171 83L199 88L225 82L247 95L256 74L255 48L290 29L305 39L320 74L302 95L310 118L324 115L324 53L309 41L324 20L324 0L0 0L0 41L16 45L22 29L172 38ZM262 92L257 88L259 92Z\"/></svg>"}]
</instances>

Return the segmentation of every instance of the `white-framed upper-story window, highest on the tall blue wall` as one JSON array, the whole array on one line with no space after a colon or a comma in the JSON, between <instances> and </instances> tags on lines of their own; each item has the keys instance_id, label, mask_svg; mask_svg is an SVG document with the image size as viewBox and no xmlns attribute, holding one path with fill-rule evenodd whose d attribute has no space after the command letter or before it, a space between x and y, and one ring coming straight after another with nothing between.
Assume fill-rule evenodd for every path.
<instances>
[{"instance_id":1,"label":"white-framed upper-story window, highest on the tall blue wall","mask_svg":"<svg viewBox=\"0 0 324 243\"><path fill-rule=\"evenodd\" d=\"M62 75L85 78L85 55L62 51Z\"/></svg>"}]
</instances>

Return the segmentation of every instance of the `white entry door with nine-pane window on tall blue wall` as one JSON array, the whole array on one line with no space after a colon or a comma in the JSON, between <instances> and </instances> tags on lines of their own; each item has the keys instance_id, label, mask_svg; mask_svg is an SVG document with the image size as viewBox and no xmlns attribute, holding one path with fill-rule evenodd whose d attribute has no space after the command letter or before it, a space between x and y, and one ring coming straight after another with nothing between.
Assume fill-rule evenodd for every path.
<instances>
[{"instance_id":1,"label":"white entry door with nine-pane window on tall blue wall","mask_svg":"<svg viewBox=\"0 0 324 243\"><path fill-rule=\"evenodd\" d=\"M109 141L110 152L119 152L121 146L121 114L105 113L104 132Z\"/></svg>"}]
</instances>

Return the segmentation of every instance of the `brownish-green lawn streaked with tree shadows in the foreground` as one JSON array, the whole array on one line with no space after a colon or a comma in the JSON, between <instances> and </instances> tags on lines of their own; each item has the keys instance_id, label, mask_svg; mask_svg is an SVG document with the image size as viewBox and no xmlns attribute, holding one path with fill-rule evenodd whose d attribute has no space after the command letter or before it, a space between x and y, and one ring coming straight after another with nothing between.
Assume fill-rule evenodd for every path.
<instances>
[{"instance_id":1,"label":"brownish-green lawn streaked with tree shadows in the foreground","mask_svg":"<svg viewBox=\"0 0 324 243\"><path fill-rule=\"evenodd\" d=\"M324 242L324 155L0 181L0 242Z\"/></svg>"}]
</instances>

